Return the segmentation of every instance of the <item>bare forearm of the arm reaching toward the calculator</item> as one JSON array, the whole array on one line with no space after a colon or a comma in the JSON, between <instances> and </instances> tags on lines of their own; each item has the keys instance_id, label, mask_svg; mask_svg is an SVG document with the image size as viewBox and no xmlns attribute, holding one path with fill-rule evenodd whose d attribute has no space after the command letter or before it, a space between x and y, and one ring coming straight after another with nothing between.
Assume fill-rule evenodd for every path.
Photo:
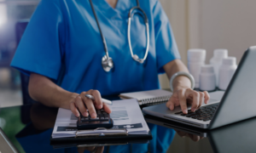
<instances>
[{"instance_id":1,"label":"bare forearm of the arm reaching toward the calculator","mask_svg":"<svg viewBox=\"0 0 256 153\"><path fill-rule=\"evenodd\" d=\"M68 92L44 77L32 73L29 79L28 91L32 99L50 106L70 109L70 102L79 94Z\"/></svg>"}]
</instances>

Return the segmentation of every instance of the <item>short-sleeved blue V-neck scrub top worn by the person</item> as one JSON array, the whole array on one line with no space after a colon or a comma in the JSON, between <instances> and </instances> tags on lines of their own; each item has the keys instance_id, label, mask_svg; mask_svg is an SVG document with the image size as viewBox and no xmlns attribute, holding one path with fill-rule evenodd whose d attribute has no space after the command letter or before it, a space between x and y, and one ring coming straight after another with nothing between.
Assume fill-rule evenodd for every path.
<instances>
[{"instance_id":1,"label":"short-sleeved blue V-neck scrub top worn by the person","mask_svg":"<svg viewBox=\"0 0 256 153\"><path fill-rule=\"evenodd\" d=\"M128 12L137 6L136 0L119 0L116 8L105 0L92 3L113 59L113 71L102 69L105 51L89 0L42 0L11 66L26 75L34 72L54 82L61 80L61 88L75 93L97 89L102 95L109 95L160 88L158 73L164 72L163 65L180 59L160 2L139 1L148 16L150 33L148 58L143 64L131 58L127 39ZM131 20L131 45L134 54L143 58L146 31L138 14Z\"/></svg>"}]
</instances>

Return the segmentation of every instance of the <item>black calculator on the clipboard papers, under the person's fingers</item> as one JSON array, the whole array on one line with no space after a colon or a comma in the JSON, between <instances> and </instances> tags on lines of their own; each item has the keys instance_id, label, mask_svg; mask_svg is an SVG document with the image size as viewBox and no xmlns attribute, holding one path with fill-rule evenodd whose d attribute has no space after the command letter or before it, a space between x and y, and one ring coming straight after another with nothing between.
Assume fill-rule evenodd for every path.
<instances>
[{"instance_id":1,"label":"black calculator on the clipboard papers, under the person's fingers","mask_svg":"<svg viewBox=\"0 0 256 153\"><path fill-rule=\"evenodd\" d=\"M80 113L77 127L79 130L96 129L97 127L112 128L113 120L104 110L96 110L96 118L90 118L90 115L82 116Z\"/></svg>"}]
</instances>

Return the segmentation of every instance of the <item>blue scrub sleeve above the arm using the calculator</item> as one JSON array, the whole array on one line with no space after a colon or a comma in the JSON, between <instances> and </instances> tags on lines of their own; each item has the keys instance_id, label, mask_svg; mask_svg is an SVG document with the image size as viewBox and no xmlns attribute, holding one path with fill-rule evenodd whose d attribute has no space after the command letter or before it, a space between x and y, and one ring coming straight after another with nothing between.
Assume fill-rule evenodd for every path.
<instances>
[{"instance_id":1,"label":"blue scrub sleeve above the arm using the calculator","mask_svg":"<svg viewBox=\"0 0 256 153\"><path fill-rule=\"evenodd\" d=\"M64 21L55 0L42 0L32 15L11 66L30 75L38 73L56 80L61 70Z\"/></svg>"}]
</instances>

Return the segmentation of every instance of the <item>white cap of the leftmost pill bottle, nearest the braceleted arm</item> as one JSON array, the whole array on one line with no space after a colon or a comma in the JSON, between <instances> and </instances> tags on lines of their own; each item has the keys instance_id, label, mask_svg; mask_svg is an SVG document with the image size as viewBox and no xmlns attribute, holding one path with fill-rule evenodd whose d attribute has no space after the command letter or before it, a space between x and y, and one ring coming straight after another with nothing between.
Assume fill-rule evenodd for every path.
<instances>
[{"instance_id":1,"label":"white cap of the leftmost pill bottle, nearest the braceleted arm","mask_svg":"<svg viewBox=\"0 0 256 153\"><path fill-rule=\"evenodd\" d=\"M206 60L207 51L201 48L191 48L188 50L189 62L201 62Z\"/></svg>"}]
</instances>

